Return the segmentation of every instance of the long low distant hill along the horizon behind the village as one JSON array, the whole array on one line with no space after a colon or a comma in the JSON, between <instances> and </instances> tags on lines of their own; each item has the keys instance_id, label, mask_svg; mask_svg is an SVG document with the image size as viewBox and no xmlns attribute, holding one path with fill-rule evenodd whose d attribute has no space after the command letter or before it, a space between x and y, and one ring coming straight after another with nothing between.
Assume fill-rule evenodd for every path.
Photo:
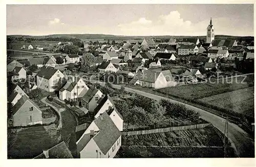
<instances>
[{"instance_id":1,"label":"long low distant hill along the horizon behind the village","mask_svg":"<svg viewBox=\"0 0 256 167\"><path fill-rule=\"evenodd\" d=\"M30 35L7 35L7 37L24 37L24 38L79 38L79 39L105 39L105 40L129 40L129 39L143 39L143 38L206 38L206 36L122 36L122 35L108 35L108 34L53 34L53 35L43 35L43 36L30 36ZM230 36L230 35L215 35L216 39L244 39L244 38L254 38L253 36Z\"/></svg>"}]
</instances>

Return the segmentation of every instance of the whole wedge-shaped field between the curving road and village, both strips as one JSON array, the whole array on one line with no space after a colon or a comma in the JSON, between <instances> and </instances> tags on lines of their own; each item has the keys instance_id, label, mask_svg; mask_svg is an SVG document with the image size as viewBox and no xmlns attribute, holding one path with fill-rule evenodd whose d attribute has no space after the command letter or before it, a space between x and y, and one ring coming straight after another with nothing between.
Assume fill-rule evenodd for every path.
<instances>
[{"instance_id":1,"label":"whole wedge-shaped field between the curving road and village, both strips","mask_svg":"<svg viewBox=\"0 0 256 167\"><path fill-rule=\"evenodd\" d=\"M182 85L156 90L157 92L187 101L197 101L219 108L233 110L238 113L253 112L254 76L249 75L216 81L216 83L200 83Z\"/></svg>"}]
</instances>

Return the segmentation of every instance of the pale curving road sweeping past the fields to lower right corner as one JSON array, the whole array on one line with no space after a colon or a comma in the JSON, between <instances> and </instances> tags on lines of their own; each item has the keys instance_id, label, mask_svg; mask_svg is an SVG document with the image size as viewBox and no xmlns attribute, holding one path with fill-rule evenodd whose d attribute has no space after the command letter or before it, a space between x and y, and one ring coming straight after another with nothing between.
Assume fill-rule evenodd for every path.
<instances>
[{"instance_id":1,"label":"pale curving road sweeping past the fields to lower right corner","mask_svg":"<svg viewBox=\"0 0 256 167\"><path fill-rule=\"evenodd\" d=\"M120 85L112 85L114 88L121 89ZM167 99L161 96L157 96L155 94L147 93L144 91L132 89L132 88L124 88L125 90L129 92L135 92L137 94L140 94L141 96L148 97L155 100L160 99L166 99L173 103L179 103L185 105L189 109L193 109L198 111L201 114L201 118L204 120L210 122L212 125L214 125L216 128L218 128L222 133L224 133L225 130L225 119L212 114L210 112L207 112L203 109L197 108L195 106L191 106L182 102L178 102L173 99ZM228 137L231 141L231 146L234 148L234 150L237 153L238 157L254 157L254 141L250 136L239 126L236 124L228 123Z\"/></svg>"}]
</instances>

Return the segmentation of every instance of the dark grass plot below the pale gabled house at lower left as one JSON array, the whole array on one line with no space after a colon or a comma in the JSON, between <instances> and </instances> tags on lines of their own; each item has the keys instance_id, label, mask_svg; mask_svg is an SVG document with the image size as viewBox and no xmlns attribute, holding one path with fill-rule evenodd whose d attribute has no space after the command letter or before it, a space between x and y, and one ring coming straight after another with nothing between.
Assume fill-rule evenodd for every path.
<instances>
[{"instance_id":1,"label":"dark grass plot below the pale gabled house at lower left","mask_svg":"<svg viewBox=\"0 0 256 167\"><path fill-rule=\"evenodd\" d=\"M13 145L8 148L8 158L34 158L57 144L42 126L35 126L17 132ZM9 142L9 141L8 141Z\"/></svg>"}]
</instances>

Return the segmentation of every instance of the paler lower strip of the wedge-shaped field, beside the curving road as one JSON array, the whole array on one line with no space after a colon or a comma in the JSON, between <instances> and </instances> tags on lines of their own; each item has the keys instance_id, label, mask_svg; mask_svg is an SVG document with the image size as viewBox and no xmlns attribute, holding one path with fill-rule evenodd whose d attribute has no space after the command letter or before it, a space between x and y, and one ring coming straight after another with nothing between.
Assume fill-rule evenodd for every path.
<instances>
[{"instance_id":1,"label":"paler lower strip of the wedge-shaped field, beside the curving road","mask_svg":"<svg viewBox=\"0 0 256 167\"><path fill-rule=\"evenodd\" d=\"M253 112L254 108L254 87L243 88L239 90L220 93L214 96L198 99L221 108L228 108L235 112Z\"/></svg>"}]
</instances>

